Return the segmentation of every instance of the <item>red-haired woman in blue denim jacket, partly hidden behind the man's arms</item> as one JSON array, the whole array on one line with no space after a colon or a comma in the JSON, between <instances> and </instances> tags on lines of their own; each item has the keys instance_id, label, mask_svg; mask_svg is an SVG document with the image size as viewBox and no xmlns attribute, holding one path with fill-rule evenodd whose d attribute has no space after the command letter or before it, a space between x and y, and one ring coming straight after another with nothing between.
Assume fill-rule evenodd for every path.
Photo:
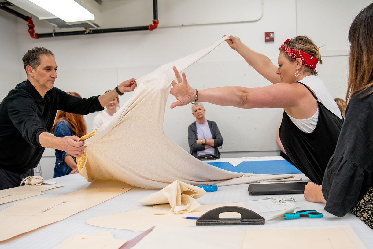
<instances>
[{"instance_id":1,"label":"red-haired woman in blue denim jacket, partly hidden behind the man's arms","mask_svg":"<svg viewBox=\"0 0 373 249\"><path fill-rule=\"evenodd\" d=\"M82 98L79 93L66 92L70 95ZM54 120L51 133L55 137L78 136L82 137L87 134L87 124L84 116L59 110ZM67 152L56 149L56 166L54 166L54 177L79 173L76 158Z\"/></svg>"}]
</instances>

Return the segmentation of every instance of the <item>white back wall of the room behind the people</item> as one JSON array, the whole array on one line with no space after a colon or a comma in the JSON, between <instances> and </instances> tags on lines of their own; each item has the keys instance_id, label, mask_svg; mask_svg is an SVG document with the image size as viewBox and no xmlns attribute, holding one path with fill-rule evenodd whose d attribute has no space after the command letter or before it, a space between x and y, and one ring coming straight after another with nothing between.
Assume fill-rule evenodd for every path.
<instances>
[{"instance_id":1,"label":"white back wall of the room behind the people","mask_svg":"<svg viewBox=\"0 0 373 249\"><path fill-rule=\"evenodd\" d=\"M242 12L240 6L247 2L252 3L253 7L247 11L248 15L244 16L242 13L245 11ZM347 85L348 29L354 16L369 4L366 0L353 2L349 0L264 0L263 17L260 18L261 0L237 0L229 3L213 1L214 4L211 6L214 8L210 7L203 12L204 19L198 19L196 18L198 1L173 0L171 4L169 0L159 0L158 3L160 25L153 31L38 40L29 37L26 23L23 20L16 20L16 31L13 28L14 18L5 18L6 15L0 13L0 18L6 19L9 22L8 25L12 27L0 26L4 29L3 34L6 34L1 35L0 41L1 44L11 43L11 47L16 46L13 50L19 51L17 58L14 58L14 52L7 55L12 60L11 64L14 64L10 68L18 73L23 70L21 57L28 49L39 46L52 50L59 66L55 86L65 91L76 91L83 97L90 97L114 88L123 80L142 77L164 63L197 52L223 35L240 37L247 46L267 55L275 64L279 53L278 47L283 41L296 35L308 35L317 46L324 46L321 50L323 64L317 65L320 78L334 98L344 99ZM102 28L148 25L153 19L151 0L110 1L103 2L100 7ZM244 7L246 8L246 5ZM222 9L226 11L226 14L216 14ZM235 12L235 10L239 11ZM197 22L209 20L229 22L236 21L237 18L250 20L258 17L260 19L254 22L162 27L162 25L194 23L196 20ZM162 24L163 20L165 20L164 24ZM37 18L34 18L34 23L35 30L39 33L52 30L50 24L39 21ZM59 31L61 30L56 30L56 32ZM269 31L275 32L275 41L265 43L264 32ZM16 38L12 38L9 42L8 38L4 38L6 36ZM15 40L17 42L13 42ZM9 66L4 59L1 59L0 65L0 69L6 69ZM197 89L225 85L258 87L270 84L225 43L190 66L185 72L189 83ZM24 77L23 74L21 75ZM15 82L19 82L19 79L17 78ZM121 96L122 105L131 96L132 93ZM175 98L170 95L167 106L174 101ZM224 138L224 144L220 150L223 156L278 153L275 135L282 117L282 109L245 110L209 103L206 103L205 107L206 118L216 121ZM189 151L187 129L188 125L194 122L190 108L190 105L172 110L167 107L163 126L166 135L187 151ZM92 127L94 115L86 117L89 129ZM53 154L53 152L49 153Z\"/></svg>"}]
</instances>

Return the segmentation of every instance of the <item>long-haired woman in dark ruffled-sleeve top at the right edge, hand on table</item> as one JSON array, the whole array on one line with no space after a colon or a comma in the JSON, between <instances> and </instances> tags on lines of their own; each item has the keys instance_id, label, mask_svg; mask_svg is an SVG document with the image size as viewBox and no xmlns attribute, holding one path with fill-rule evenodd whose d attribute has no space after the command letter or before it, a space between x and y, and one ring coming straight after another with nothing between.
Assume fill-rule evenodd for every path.
<instances>
[{"instance_id":1,"label":"long-haired woman in dark ruffled-sleeve top at the right edge, hand on table","mask_svg":"<svg viewBox=\"0 0 373 249\"><path fill-rule=\"evenodd\" d=\"M309 183L304 197L326 202L325 210L338 217L351 211L373 229L373 4L356 16L348 40L345 121L323 185Z\"/></svg>"}]
</instances>

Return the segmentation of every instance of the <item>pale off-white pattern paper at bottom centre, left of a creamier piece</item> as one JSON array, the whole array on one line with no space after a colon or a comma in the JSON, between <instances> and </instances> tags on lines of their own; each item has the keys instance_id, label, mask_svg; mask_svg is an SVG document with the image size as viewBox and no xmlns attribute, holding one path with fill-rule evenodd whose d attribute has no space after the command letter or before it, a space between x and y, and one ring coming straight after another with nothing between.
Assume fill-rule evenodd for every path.
<instances>
[{"instance_id":1,"label":"pale off-white pattern paper at bottom centre, left of a creamier piece","mask_svg":"<svg viewBox=\"0 0 373 249\"><path fill-rule=\"evenodd\" d=\"M157 225L132 249L238 249L241 248L244 234L244 228L229 225L221 227Z\"/></svg>"}]
</instances>

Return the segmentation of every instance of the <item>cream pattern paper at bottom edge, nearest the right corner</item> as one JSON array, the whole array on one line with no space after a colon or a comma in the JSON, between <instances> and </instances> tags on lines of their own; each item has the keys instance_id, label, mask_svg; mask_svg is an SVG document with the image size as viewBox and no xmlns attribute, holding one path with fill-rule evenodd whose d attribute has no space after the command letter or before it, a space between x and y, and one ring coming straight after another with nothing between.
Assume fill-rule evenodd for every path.
<instances>
[{"instance_id":1,"label":"cream pattern paper at bottom edge, nearest the right corner","mask_svg":"<svg viewBox=\"0 0 373 249\"><path fill-rule=\"evenodd\" d=\"M349 225L345 225L348 226ZM347 228L348 229L348 228ZM352 230L352 228L351 228ZM350 230L350 232L351 232ZM354 231L352 230L352 233ZM316 228L280 228L280 229L251 229L245 233L242 249L356 249L350 237L341 227L316 227ZM289 238L289 243L281 243L284 238ZM361 242L361 241L360 241ZM360 242L358 244L360 245ZM365 247L365 246L364 246ZM359 247L361 248L361 247Z\"/></svg>"}]
</instances>

